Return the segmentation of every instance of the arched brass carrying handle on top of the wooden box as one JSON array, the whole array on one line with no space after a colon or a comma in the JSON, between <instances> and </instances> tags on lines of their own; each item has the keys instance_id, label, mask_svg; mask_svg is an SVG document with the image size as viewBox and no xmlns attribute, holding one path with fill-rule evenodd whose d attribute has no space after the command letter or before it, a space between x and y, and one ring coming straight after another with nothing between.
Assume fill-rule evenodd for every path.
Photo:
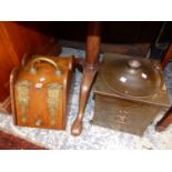
<instances>
[{"instance_id":1,"label":"arched brass carrying handle on top of the wooden box","mask_svg":"<svg viewBox=\"0 0 172 172\"><path fill-rule=\"evenodd\" d=\"M51 65L53 65L55 68L55 74L61 74L62 73L62 71L60 70L60 68L59 68L59 65L58 65L58 63L55 61L53 61L52 59L45 58L45 57L39 57L39 58L33 59L32 62L31 62L30 72L32 74L36 74L37 73L37 69L34 67L34 64L37 62L40 62L40 61L44 61L44 62L48 62Z\"/></svg>"}]
</instances>

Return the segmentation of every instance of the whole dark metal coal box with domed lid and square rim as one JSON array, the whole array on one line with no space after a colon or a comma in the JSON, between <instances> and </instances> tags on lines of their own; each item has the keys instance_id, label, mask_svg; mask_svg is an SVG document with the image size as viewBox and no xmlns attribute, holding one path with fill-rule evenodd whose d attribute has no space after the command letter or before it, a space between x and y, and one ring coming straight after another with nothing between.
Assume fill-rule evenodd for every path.
<instances>
[{"instance_id":1,"label":"whole dark metal coal box with domed lid and square rim","mask_svg":"<svg viewBox=\"0 0 172 172\"><path fill-rule=\"evenodd\" d=\"M93 92L92 124L136 135L170 108L158 60L105 53Z\"/></svg>"}]
</instances>

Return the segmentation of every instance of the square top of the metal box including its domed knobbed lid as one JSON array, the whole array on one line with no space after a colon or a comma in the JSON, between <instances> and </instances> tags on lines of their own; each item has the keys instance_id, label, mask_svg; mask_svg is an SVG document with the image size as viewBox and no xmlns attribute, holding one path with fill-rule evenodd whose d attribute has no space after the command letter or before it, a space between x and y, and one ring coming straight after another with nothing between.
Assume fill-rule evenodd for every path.
<instances>
[{"instance_id":1,"label":"square top of the metal box including its domed knobbed lid","mask_svg":"<svg viewBox=\"0 0 172 172\"><path fill-rule=\"evenodd\" d=\"M158 60L105 53L94 92L170 107Z\"/></svg>"}]
</instances>

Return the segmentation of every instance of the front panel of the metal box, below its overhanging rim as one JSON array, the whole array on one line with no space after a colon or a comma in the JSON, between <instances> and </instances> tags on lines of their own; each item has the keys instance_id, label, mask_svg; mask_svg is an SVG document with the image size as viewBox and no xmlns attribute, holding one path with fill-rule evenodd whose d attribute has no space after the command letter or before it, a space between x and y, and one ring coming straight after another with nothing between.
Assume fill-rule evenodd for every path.
<instances>
[{"instance_id":1,"label":"front panel of the metal box, below its overhanging rim","mask_svg":"<svg viewBox=\"0 0 172 172\"><path fill-rule=\"evenodd\" d=\"M155 105L97 94L92 124L143 135L160 110Z\"/></svg>"}]
</instances>

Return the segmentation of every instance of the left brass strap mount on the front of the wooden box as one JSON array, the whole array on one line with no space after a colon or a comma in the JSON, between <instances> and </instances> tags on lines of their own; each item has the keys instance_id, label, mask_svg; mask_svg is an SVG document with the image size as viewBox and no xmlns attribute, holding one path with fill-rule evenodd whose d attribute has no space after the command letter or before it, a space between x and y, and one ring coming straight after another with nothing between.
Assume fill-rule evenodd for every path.
<instances>
[{"instance_id":1,"label":"left brass strap mount on the front of the wooden box","mask_svg":"<svg viewBox=\"0 0 172 172\"><path fill-rule=\"evenodd\" d=\"M18 91L18 102L21 107L22 110L22 123L27 122L27 108L28 108L28 103L29 103L29 87L30 87L30 82L28 81L22 81L19 82L17 84L17 91Z\"/></svg>"}]
</instances>

